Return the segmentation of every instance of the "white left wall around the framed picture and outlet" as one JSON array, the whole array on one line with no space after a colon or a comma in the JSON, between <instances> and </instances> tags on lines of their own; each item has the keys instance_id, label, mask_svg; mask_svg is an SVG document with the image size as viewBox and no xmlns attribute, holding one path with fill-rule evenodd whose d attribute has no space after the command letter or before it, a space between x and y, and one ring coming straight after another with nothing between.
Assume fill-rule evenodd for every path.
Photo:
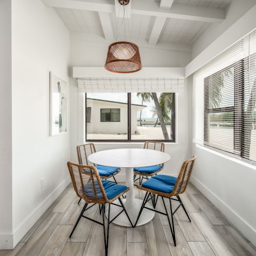
<instances>
[{"instance_id":1,"label":"white left wall around the framed picture and outlet","mask_svg":"<svg viewBox=\"0 0 256 256\"><path fill-rule=\"evenodd\" d=\"M68 80L69 51L69 32L54 9L12 0L14 245L70 182L69 125L49 136L49 74Z\"/></svg>"}]
</instances>

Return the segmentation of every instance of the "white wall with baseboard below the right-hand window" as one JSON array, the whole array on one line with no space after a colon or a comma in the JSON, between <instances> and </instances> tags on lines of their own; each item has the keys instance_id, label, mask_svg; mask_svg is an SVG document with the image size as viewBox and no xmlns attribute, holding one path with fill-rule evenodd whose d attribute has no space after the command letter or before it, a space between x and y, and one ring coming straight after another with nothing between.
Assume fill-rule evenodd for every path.
<instances>
[{"instance_id":1,"label":"white wall with baseboard below the right-hand window","mask_svg":"<svg viewBox=\"0 0 256 256\"><path fill-rule=\"evenodd\" d=\"M256 246L256 167L193 144L192 182Z\"/></svg>"}]
</instances>

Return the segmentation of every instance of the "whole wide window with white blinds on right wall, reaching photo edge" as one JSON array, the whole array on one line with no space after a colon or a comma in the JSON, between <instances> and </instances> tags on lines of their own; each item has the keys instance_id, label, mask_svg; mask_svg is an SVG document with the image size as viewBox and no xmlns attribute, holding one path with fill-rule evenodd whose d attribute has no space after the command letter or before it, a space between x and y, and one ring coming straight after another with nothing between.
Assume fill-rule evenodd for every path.
<instances>
[{"instance_id":1,"label":"whole wide window with white blinds on right wall, reaching photo edge","mask_svg":"<svg viewBox=\"0 0 256 256\"><path fill-rule=\"evenodd\" d=\"M204 79L204 145L256 162L256 53Z\"/></svg>"}]
</instances>

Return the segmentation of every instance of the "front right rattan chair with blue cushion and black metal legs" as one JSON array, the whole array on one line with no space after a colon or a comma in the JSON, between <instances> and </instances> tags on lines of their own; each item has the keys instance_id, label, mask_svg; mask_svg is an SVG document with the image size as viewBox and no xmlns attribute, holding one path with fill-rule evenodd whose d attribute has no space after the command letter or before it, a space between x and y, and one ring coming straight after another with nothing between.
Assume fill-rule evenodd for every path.
<instances>
[{"instance_id":1,"label":"front right rattan chair with blue cushion and black metal legs","mask_svg":"<svg viewBox=\"0 0 256 256\"><path fill-rule=\"evenodd\" d=\"M178 178L173 177L173 176L169 176L169 175L161 175L160 174L160 175L156 175L156 176L152 177L149 180L146 180L145 182L143 182L141 184L141 186L138 186L139 189L142 189L142 190L146 191L146 195L144 197L144 200L143 200L143 203L141 205L139 215L137 217L137 220L136 220L136 223L135 223L134 227L136 226L136 224L137 224L137 222L140 218L140 215L141 215L141 212L142 212L143 208L156 211L159 214L166 215L167 218L168 218L170 231L172 232L174 245L176 246L173 216L176 213L176 211L178 210L178 208L180 206L182 206L188 220L190 221L190 218L187 214L185 206L183 205L179 195L184 193L184 191L186 190L187 184L189 182L189 179L190 179L190 176L191 176L191 173L192 173L192 170L193 170L195 159L196 159L196 156L193 156L193 158L188 159L185 162L183 162ZM157 200L158 200L159 196L162 198L165 212L157 211L157 210L154 209L155 207L152 209L152 208L148 208L148 207L145 206L145 204L148 201L152 200L152 197L154 195L157 195L156 203L157 203ZM172 197L177 197L177 199L174 199ZM170 223L170 219L169 219L169 216L168 216L168 212L167 212L167 209L166 209L164 198L169 199L170 213L171 213L171 217L172 217L172 224ZM173 210L173 208L172 208L172 200L178 201L180 203L175 210Z\"/></svg>"}]
</instances>

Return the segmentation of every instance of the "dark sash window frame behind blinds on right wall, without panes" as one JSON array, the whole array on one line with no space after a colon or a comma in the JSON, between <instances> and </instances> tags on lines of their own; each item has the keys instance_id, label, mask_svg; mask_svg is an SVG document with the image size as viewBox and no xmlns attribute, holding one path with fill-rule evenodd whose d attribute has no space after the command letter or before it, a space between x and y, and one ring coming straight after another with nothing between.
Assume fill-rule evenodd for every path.
<instances>
[{"instance_id":1,"label":"dark sash window frame behind blinds on right wall, without panes","mask_svg":"<svg viewBox=\"0 0 256 256\"><path fill-rule=\"evenodd\" d=\"M244 134L244 70L243 67L244 59L241 59L228 67L215 72L204 78L204 146L211 148L212 150L220 151L226 155L232 155L233 157L243 158L244 145L243 145L243 134ZM234 69L234 104L232 106L225 106L220 108L210 109L209 104L209 78L224 70L233 68ZM242 82L241 82L242 81ZM243 93L241 93L241 91ZM241 95L240 95L241 94ZM237 96L238 95L238 96ZM240 96L240 99L238 99ZM233 152L225 151L219 147L209 145L209 121L208 114L210 113L229 113L233 112Z\"/></svg>"}]
</instances>

